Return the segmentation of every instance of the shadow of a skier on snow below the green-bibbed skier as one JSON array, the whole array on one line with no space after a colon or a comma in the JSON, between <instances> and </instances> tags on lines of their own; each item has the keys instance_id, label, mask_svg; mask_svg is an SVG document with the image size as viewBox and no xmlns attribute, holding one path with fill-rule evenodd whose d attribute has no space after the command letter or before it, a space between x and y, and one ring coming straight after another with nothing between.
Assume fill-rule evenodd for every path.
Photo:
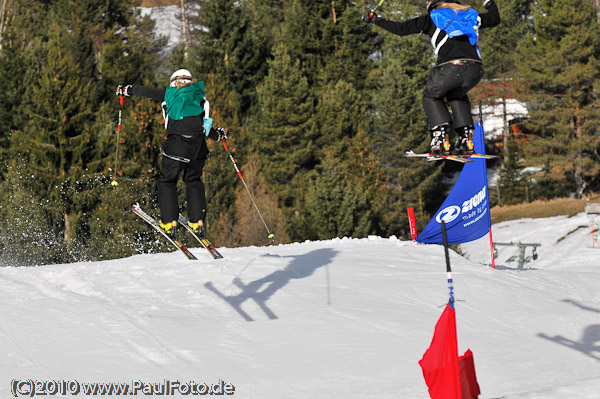
<instances>
[{"instance_id":1,"label":"shadow of a skier on snow below the green-bibbed skier","mask_svg":"<svg viewBox=\"0 0 600 399\"><path fill-rule=\"evenodd\" d=\"M211 282L207 282L204 286L227 302L235 309L246 321L254 321L254 319L246 313L241 305L249 299L252 299L269 317L269 319L277 319L277 315L273 313L267 306L266 302L280 289L285 287L292 279L306 278L312 275L315 270L327 266L337 251L331 248L317 249L303 255L284 256L292 258L292 261L285 269L274 271L273 273L245 284L239 277L233 279L233 284L241 289L237 295L225 295L219 291ZM264 255L273 256L273 255ZM282 258L284 258L282 257ZM329 273L327 273L327 283L329 289Z\"/></svg>"}]
</instances>

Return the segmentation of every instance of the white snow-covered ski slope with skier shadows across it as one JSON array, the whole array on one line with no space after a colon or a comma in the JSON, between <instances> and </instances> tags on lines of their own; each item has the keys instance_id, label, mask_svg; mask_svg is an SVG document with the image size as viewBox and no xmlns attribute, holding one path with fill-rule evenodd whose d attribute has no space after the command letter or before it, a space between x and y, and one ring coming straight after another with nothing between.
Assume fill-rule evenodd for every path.
<instances>
[{"instance_id":1,"label":"white snow-covered ski slope with skier shadows across it","mask_svg":"<svg viewBox=\"0 0 600 399\"><path fill-rule=\"evenodd\" d=\"M524 270L451 253L459 351L474 353L481 398L598 397L600 250L577 241L584 229L567 234L584 219L495 228L548 244ZM473 245L489 263L489 244ZM371 237L220 250L1 268L0 397L25 389L15 379L428 397L417 362L448 299L442 247Z\"/></svg>"}]
</instances>

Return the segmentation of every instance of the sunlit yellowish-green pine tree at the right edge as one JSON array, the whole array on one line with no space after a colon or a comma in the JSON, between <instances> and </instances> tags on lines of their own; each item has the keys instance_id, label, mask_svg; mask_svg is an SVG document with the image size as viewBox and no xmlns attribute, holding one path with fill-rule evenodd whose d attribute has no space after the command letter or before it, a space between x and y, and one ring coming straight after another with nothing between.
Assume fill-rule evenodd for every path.
<instances>
[{"instance_id":1,"label":"sunlit yellowish-green pine tree at the right edge","mask_svg":"<svg viewBox=\"0 0 600 399\"><path fill-rule=\"evenodd\" d=\"M534 32L519 47L520 81L535 132L528 163L566 179L581 196L597 187L600 29L589 0L539 0ZM566 194L567 192L557 193Z\"/></svg>"}]
</instances>

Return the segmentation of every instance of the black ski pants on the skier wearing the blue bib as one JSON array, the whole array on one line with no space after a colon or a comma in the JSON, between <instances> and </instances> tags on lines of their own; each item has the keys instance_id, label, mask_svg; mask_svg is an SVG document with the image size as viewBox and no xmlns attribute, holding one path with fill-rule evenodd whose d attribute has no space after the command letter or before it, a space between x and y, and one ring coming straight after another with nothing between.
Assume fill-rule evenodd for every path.
<instances>
[{"instance_id":1,"label":"black ski pants on the skier wearing the blue bib","mask_svg":"<svg viewBox=\"0 0 600 399\"><path fill-rule=\"evenodd\" d=\"M479 83L482 76L483 65L478 62L470 65L448 63L433 68L423 91L423 109L429 128L443 124L454 125L455 129L473 126L471 101L467 92ZM452 117L446 101L452 109Z\"/></svg>"}]
</instances>

